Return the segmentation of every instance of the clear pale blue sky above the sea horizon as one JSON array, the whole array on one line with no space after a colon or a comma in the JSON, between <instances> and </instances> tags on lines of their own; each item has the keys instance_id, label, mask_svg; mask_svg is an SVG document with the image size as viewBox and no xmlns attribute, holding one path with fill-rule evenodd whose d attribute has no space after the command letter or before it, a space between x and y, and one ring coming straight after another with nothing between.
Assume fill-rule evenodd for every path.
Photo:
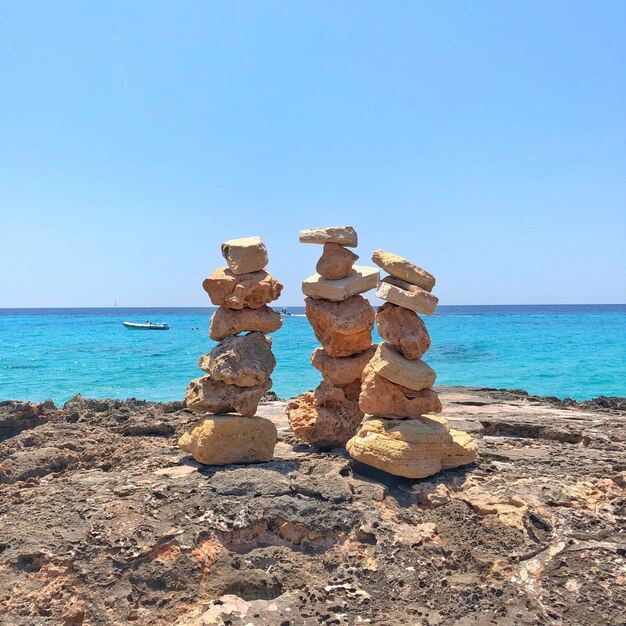
<instances>
[{"instance_id":1,"label":"clear pale blue sky above the sea horizon","mask_svg":"<svg viewBox=\"0 0 626 626\"><path fill-rule=\"evenodd\" d=\"M352 224L443 304L626 302L626 2L0 1L0 307L284 305Z\"/></svg>"}]
</instances>

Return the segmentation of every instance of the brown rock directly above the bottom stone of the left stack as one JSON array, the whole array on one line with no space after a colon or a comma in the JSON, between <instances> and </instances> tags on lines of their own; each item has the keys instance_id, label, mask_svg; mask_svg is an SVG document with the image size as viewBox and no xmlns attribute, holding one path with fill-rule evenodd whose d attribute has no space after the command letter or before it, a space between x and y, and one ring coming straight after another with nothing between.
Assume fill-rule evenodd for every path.
<instances>
[{"instance_id":1,"label":"brown rock directly above the bottom stone of the left stack","mask_svg":"<svg viewBox=\"0 0 626 626\"><path fill-rule=\"evenodd\" d=\"M187 386L185 402L187 408L194 413L236 412L244 417L256 413L263 394L272 386L272 379L254 387L228 385L221 380L213 380L210 376L202 376L192 380Z\"/></svg>"}]
</instances>

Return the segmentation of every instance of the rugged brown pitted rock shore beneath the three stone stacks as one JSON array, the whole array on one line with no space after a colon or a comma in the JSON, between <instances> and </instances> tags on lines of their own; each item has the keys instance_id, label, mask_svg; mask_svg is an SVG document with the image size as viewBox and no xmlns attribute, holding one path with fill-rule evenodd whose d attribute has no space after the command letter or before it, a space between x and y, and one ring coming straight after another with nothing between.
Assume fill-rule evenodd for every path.
<instances>
[{"instance_id":1,"label":"rugged brown pitted rock shore beneath the three stone stacks","mask_svg":"<svg viewBox=\"0 0 626 626\"><path fill-rule=\"evenodd\" d=\"M179 403L0 403L0 623L624 624L626 411L442 388L475 465L202 468Z\"/></svg>"}]
</instances>

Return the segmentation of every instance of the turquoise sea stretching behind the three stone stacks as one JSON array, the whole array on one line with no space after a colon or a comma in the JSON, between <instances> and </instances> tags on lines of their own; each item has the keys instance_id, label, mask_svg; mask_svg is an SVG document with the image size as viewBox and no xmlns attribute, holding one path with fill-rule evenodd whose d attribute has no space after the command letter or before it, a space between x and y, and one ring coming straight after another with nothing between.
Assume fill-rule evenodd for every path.
<instances>
[{"instance_id":1,"label":"turquoise sea stretching behind the three stone stacks","mask_svg":"<svg viewBox=\"0 0 626 626\"><path fill-rule=\"evenodd\" d=\"M0 400L62 403L92 398L182 399L214 343L212 308L0 309ZM302 308L272 335L274 390L314 387L318 345ZM169 331L129 331L122 321L167 321ZM626 305L440 306L426 320L425 360L437 384L525 389L576 400L626 396Z\"/></svg>"}]
</instances>

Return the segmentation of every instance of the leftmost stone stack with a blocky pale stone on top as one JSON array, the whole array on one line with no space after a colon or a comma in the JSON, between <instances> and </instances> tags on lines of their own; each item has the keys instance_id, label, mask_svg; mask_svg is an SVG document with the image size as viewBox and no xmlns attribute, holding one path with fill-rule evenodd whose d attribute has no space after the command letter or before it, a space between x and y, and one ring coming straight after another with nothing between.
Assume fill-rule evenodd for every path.
<instances>
[{"instance_id":1,"label":"leftmost stone stack with a blocky pale stone on top","mask_svg":"<svg viewBox=\"0 0 626 626\"><path fill-rule=\"evenodd\" d=\"M265 335L282 326L280 315L267 305L280 296L283 286L264 269L267 249L259 237L227 241L222 254L228 267L217 268L202 283L218 306L209 336L219 343L200 357L206 375L192 380L185 394L189 409L210 415L191 426L178 443L206 465L270 461L276 427L254 415L272 386L276 366L272 342Z\"/></svg>"}]
</instances>

